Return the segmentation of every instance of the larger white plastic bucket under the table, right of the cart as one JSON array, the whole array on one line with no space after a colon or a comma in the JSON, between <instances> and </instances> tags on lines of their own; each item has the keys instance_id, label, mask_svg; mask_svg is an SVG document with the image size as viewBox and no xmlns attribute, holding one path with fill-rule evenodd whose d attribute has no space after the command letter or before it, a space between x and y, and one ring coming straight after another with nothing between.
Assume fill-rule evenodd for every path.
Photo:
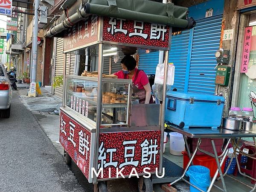
<instances>
[{"instance_id":1,"label":"larger white plastic bucket under the table, right of the cart","mask_svg":"<svg viewBox=\"0 0 256 192\"><path fill-rule=\"evenodd\" d=\"M170 135L170 154L182 156L182 151L185 150L185 142L182 134L171 132Z\"/></svg>"}]
</instances>

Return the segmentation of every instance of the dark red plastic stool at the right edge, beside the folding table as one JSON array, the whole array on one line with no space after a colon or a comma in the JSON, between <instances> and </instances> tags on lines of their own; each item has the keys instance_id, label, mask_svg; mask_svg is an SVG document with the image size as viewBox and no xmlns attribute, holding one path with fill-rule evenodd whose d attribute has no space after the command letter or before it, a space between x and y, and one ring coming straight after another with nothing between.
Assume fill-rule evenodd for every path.
<instances>
[{"instance_id":1,"label":"dark red plastic stool at the right edge, beside the folding table","mask_svg":"<svg viewBox=\"0 0 256 192\"><path fill-rule=\"evenodd\" d=\"M255 154L256 148L253 142L244 142L244 144L241 146L241 151L243 151L244 148L247 148L248 154ZM238 161L241 162L242 155L238 155ZM256 157L256 155L254 155ZM246 175L249 175L256 179L256 160L252 159L250 157L247 158L247 162L245 163L239 163L241 172L245 173ZM238 167L236 166L235 171L233 175L237 176L238 173ZM251 180L251 183L255 184L255 180Z\"/></svg>"}]
</instances>

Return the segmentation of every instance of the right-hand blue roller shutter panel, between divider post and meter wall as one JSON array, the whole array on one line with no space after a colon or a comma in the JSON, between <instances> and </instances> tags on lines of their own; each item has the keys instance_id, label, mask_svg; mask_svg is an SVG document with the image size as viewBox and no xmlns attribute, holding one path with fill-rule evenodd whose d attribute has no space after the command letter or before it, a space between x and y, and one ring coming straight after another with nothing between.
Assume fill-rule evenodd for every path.
<instances>
[{"instance_id":1,"label":"right-hand blue roller shutter panel, between divider post and meter wall","mask_svg":"<svg viewBox=\"0 0 256 192\"><path fill-rule=\"evenodd\" d=\"M188 91L215 93L215 52L219 49L222 15L197 21L190 59Z\"/></svg>"}]
</instances>

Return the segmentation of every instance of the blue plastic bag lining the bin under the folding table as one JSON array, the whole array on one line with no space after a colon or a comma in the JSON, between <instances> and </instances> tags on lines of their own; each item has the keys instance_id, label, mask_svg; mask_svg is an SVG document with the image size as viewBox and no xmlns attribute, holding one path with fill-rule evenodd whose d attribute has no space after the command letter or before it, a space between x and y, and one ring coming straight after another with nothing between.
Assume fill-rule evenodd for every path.
<instances>
[{"instance_id":1,"label":"blue plastic bag lining the bin under the folding table","mask_svg":"<svg viewBox=\"0 0 256 192\"><path fill-rule=\"evenodd\" d=\"M204 166L190 166L186 172L186 176L189 177L190 183L197 186L203 191L207 191L210 185L210 170ZM200 192L195 187L190 186L190 192Z\"/></svg>"}]
</instances>

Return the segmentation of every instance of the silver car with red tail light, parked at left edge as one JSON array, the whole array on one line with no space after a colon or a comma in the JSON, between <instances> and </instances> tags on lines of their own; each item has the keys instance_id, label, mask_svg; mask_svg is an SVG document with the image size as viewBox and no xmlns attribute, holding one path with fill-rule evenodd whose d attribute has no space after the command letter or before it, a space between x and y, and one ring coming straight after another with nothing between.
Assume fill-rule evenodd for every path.
<instances>
[{"instance_id":1,"label":"silver car with red tail light, parked at left edge","mask_svg":"<svg viewBox=\"0 0 256 192\"><path fill-rule=\"evenodd\" d=\"M0 64L0 116L10 117L12 87L3 64Z\"/></svg>"}]
</instances>

